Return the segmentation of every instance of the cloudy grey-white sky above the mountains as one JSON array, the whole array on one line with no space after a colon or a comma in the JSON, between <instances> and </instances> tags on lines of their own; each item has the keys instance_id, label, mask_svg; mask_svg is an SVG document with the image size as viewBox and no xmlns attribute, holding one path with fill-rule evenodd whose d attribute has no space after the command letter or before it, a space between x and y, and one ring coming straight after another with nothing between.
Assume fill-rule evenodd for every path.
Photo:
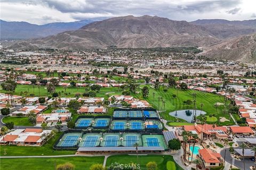
<instances>
[{"instance_id":1,"label":"cloudy grey-white sky above the mountains","mask_svg":"<svg viewBox=\"0 0 256 170\"><path fill-rule=\"evenodd\" d=\"M256 0L0 0L0 18L35 24L125 15L171 20L256 19Z\"/></svg>"}]
</instances>

